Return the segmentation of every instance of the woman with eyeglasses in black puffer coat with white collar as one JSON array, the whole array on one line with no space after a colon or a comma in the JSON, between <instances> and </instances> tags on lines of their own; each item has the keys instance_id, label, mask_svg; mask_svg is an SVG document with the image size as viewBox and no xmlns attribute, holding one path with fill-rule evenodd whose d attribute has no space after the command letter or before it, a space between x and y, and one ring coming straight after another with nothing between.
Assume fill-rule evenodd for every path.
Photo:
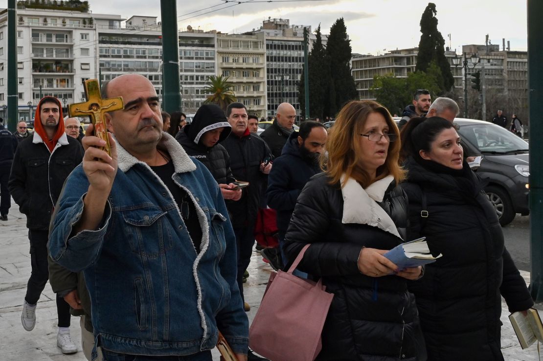
<instances>
[{"instance_id":1,"label":"woman with eyeglasses in black puffer coat with white collar","mask_svg":"<svg viewBox=\"0 0 543 361\"><path fill-rule=\"evenodd\" d=\"M317 360L425 360L414 296L383 254L405 242L407 197L397 187L398 128L372 100L339 112L326 149L326 171L307 183L285 236L290 262L311 244L298 269L334 294Z\"/></svg>"}]
</instances>

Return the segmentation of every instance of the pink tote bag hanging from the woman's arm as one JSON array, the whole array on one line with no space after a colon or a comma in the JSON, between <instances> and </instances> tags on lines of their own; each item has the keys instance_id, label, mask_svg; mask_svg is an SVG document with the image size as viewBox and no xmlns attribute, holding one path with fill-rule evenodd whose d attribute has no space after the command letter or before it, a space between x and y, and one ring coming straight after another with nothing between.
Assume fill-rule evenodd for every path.
<instances>
[{"instance_id":1,"label":"pink tote bag hanging from the woman's arm","mask_svg":"<svg viewBox=\"0 0 543 361\"><path fill-rule=\"evenodd\" d=\"M249 328L249 346L271 361L313 361L333 294L318 282L292 273L307 244L288 272L271 273L266 292Z\"/></svg>"}]
</instances>

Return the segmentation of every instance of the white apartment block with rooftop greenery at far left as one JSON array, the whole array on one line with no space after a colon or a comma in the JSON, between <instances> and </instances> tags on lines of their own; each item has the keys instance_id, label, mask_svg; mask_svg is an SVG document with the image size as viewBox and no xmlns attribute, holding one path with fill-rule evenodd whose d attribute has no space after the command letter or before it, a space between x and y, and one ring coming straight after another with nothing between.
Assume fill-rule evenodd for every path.
<instances>
[{"instance_id":1,"label":"white apartment block with rooftop greenery at far left","mask_svg":"<svg viewBox=\"0 0 543 361\"><path fill-rule=\"evenodd\" d=\"M71 10L19 8L17 10L17 83L20 118L30 119L42 96L77 102L84 92L82 78L97 74L96 26L98 14ZM7 57L8 14L0 11L0 58ZM7 61L0 60L0 107L7 104ZM5 114L4 114L5 115Z\"/></svg>"}]
</instances>

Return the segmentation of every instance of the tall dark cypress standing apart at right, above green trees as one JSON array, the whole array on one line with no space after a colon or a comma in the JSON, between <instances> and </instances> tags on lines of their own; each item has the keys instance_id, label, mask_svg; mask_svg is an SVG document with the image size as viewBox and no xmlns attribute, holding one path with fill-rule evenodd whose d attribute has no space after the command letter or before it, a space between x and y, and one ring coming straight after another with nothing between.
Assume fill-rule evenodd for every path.
<instances>
[{"instance_id":1,"label":"tall dark cypress standing apart at right, above green trees","mask_svg":"<svg viewBox=\"0 0 543 361\"><path fill-rule=\"evenodd\" d=\"M446 92L451 90L454 85L454 78L451 72L451 65L445 57L445 40L438 30L438 19L435 17L435 14L437 14L435 4L428 3L420 18L420 32L422 35L420 36L419 53L415 69L416 71L426 72L431 63L435 62L443 78L443 87L440 90L441 92Z\"/></svg>"}]
</instances>

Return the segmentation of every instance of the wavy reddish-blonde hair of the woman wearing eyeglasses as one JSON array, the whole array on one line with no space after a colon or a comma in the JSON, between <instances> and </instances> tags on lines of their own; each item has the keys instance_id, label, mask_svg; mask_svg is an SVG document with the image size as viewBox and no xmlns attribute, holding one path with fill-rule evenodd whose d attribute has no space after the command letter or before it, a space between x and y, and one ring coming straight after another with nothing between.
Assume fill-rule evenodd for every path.
<instances>
[{"instance_id":1,"label":"wavy reddish-blonde hair of the woman wearing eyeglasses","mask_svg":"<svg viewBox=\"0 0 543 361\"><path fill-rule=\"evenodd\" d=\"M376 178L371 179L369 173L360 166L358 161L361 154L360 135L368 116L374 112L384 117L389 134L396 134L397 138L395 142L389 143L387 158L384 164L377 168ZM331 184L339 182L343 174L346 176L345 180L353 178L363 188L388 175L394 176L397 184L406 177L405 170L398 163L400 148L400 131L386 107L373 100L353 100L345 104L339 112L333 131L330 132L326 141L328 155L326 158L321 157L321 163L331 179Z\"/></svg>"}]
</instances>

